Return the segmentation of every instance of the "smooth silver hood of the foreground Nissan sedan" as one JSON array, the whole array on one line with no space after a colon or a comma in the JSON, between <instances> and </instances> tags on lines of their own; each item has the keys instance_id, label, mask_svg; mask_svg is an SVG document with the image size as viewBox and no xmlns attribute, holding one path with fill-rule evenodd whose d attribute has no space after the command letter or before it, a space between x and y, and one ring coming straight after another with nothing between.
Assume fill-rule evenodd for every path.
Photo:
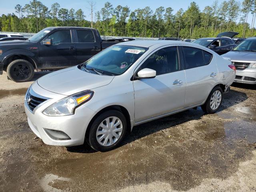
<instances>
[{"instance_id":1,"label":"smooth silver hood of the foreground Nissan sedan","mask_svg":"<svg viewBox=\"0 0 256 192\"><path fill-rule=\"evenodd\" d=\"M105 86L114 76L92 74L77 66L58 70L38 79L38 85L50 92L72 95L84 90Z\"/></svg>"}]
</instances>

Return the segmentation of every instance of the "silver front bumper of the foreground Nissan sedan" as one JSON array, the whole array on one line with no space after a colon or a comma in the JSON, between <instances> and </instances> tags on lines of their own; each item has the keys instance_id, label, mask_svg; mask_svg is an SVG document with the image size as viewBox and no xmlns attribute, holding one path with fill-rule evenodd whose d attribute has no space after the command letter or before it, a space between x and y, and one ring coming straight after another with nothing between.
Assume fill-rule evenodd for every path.
<instances>
[{"instance_id":1,"label":"silver front bumper of the foreground Nissan sedan","mask_svg":"<svg viewBox=\"0 0 256 192\"><path fill-rule=\"evenodd\" d=\"M45 90L46 91L46 90ZM24 108L28 117L28 125L31 130L42 139L45 144L55 146L76 146L84 143L85 132L92 117L96 112L82 105L76 108L74 115L70 116L46 116L42 113L44 109L54 103L51 99L31 112L26 104ZM64 132L69 139L54 139L47 130Z\"/></svg>"}]
</instances>

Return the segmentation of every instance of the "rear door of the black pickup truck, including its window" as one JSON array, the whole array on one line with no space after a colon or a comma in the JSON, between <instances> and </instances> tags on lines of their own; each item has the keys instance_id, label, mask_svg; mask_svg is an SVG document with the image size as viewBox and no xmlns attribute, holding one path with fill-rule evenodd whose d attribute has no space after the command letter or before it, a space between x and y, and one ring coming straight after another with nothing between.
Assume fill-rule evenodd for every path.
<instances>
[{"instance_id":1,"label":"rear door of the black pickup truck, including its window","mask_svg":"<svg viewBox=\"0 0 256 192\"><path fill-rule=\"evenodd\" d=\"M100 36L90 29L75 30L77 64L81 64L101 50ZM97 40L99 39L99 40Z\"/></svg>"}]
</instances>

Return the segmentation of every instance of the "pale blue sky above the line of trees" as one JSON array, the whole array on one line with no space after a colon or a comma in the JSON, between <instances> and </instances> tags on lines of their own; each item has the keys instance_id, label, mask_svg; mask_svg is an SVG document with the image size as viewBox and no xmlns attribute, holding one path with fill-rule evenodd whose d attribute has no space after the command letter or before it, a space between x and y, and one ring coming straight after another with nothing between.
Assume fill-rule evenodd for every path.
<instances>
[{"instance_id":1,"label":"pale blue sky above the line of trees","mask_svg":"<svg viewBox=\"0 0 256 192\"><path fill-rule=\"evenodd\" d=\"M61 8L74 8L75 10L82 9L84 11L84 14L86 16L87 20L90 20L90 14L88 10L88 3L87 0L40 0L45 6L47 6L49 9L51 5L54 2L58 2L60 4ZM135 10L137 8L144 8L146 6L149 6L152 10L155 11L156 8L163 6L164 8L172 7L174 9L174 14L180 9L183 8L186 10L188 6L190 5L190 2L193 0L93 0L96 2L96 10L100 10L106 1L109 1L114 8L118 5L121 6L128 6L130 7L130 10ZM223 2L224 0L219 0L219 4ZM241 2L243 0L238 0ZM8 13L15 13L14 7L16 4L20 4L21 6L24 6L25 4L29 3L30 0L9 0L8 3L1 4L0 6L0 15L2 14L8 14ZM200 10L202 11L205 6L211 6L214 2L213 0L194 0L196 4L198 4ZM252 20L252 15L250 14L248 16L248 22L250 23ZM239 21L239 20L238 20Z\"/></svg>"}]
</instances>

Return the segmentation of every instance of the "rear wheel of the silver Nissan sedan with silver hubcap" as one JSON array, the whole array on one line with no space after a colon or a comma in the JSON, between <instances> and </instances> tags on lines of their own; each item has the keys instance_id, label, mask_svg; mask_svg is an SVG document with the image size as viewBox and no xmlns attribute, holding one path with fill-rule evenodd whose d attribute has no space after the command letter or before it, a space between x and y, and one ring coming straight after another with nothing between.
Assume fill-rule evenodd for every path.
<instances>
[{"instance_id":1,"label":"rear wheel of the silver Nissan sedan with silver hubcap","mask_svg":"<svg viewBox=\"0 0 256 192\"><path fill-rule=\"evenodd\" d=\"M215 113L221 106L223 100L223 91L219 86L212 89L206 102L201 106L207 114Z\"/></svg>"}]
</instances>

